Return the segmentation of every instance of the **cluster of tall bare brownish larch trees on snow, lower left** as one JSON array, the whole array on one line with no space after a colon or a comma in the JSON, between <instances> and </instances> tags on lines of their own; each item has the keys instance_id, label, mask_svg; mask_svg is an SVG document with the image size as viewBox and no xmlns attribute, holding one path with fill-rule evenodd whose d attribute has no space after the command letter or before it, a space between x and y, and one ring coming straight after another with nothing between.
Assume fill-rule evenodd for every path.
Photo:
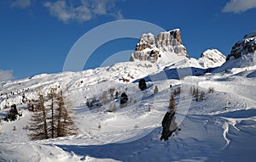
<instances>
[{"instance_id":1,"label":"cluster of tall bare brownish larch trees on snow, lower left","mask_svg":"<svg viewBox=\"0 0 256 162\"><path fill-rule=\"evenodd\" d=\"M68 104L63 92L57 92L56 88L51 88L46 96L39 93L31 117L29 137L42 140L77 135L78 128L69 116Z\"/></svg>"}]
</instances>

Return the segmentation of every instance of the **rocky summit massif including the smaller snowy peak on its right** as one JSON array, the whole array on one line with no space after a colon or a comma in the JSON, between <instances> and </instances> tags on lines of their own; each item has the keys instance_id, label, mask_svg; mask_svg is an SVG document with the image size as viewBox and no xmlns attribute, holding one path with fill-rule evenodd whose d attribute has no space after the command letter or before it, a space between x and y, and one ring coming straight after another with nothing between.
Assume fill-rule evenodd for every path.
<instances>
[{"instance_id":1,"label":"rocky summit massif including the smaller snowy peak on its right","mask_svg":"<svg viewBox=\"0 0 256 162\"><path fill-rule=\"evenodd\" d=\"M200 59L189 57L186 47L184 47L181 31L160 32L157 36L151 33L143 34L137 43L136 50L131 53L131 61L151 61L157 63L162 68L175 66L196 67L207 69L218 67L225 62L225 56L217 49L209 49L201 54Z\"/></svg>"}]
</instances>

